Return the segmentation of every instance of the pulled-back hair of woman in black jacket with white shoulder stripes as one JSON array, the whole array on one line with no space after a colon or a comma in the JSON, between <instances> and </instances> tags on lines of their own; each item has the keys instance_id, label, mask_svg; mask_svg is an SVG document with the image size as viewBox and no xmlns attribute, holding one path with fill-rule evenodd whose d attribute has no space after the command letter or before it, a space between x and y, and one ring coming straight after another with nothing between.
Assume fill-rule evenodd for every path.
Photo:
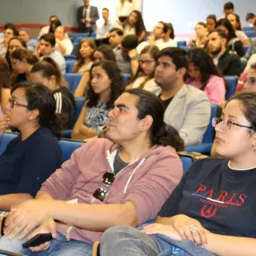
<instances>
[{"instance_id":1,"label":"pulled-back hair of woman in black jacket with white shoulder stripes","mask_svg":"<svg viewBox=\"0 0 256 256\"><path fill-rule=\"evenodd\" d=\"M42 77L47 79L50 79L50 77L54 75L56 77L56 84L61 86L62 72L54 59L50 58L49 56L45 56L44 59L35 63L31 69L31 73L36 72L41 72Z\"/></svg>"}]
</instances>

